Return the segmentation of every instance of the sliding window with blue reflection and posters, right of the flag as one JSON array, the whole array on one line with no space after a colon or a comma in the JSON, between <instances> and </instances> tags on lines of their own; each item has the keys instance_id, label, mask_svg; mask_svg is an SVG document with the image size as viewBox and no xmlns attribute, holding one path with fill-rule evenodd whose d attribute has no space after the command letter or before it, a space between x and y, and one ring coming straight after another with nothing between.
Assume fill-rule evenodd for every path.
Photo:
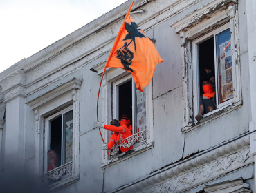
<instances>
[{"instance_id":1,"label":"sliding window with blue reflection and posters, right of the flag","mask_svg":"<svg viewBox=\"0 0 256 193\"><path fill-rule=\"evenodd\" d=\"M194 108L194 114L198 114L199 111L199 100L202 97L203 81L209 79L215 79L215 96L213 101L216 105L216 110L207 112L204 116L208 116L216 112L219 108L225 107L229 103L232 103L233 99L233 81L235 71L232 70L232 52L231 52L231 32L230 26L225 25L217 30L214 30L207 35L196 39L193 43L194 55L196 57L196 68L194 71L197 74L194 77L194 81L197 85L195 101L196 107ZM205 72L205 68L211 70L209 73Z\"/></svg>"}]
</instances>

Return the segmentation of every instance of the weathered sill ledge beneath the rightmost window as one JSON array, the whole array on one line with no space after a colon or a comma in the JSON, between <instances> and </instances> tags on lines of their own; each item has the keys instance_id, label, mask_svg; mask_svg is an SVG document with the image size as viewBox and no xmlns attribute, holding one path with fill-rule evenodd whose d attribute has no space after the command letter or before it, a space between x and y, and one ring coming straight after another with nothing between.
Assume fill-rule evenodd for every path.
<instances>
[{"instance_id":1,"label":"weathered sill ledge beneath the rightmost window","mask_svg":"<svg viewBox=\"0 0 256 193\"><path fill-rule=\"evenodd\" d=\"M228 105L226 108L218 110L217 112L210 114L210 116L206 116L201 121L197 121L197 122L192 123L191 125L185 126L184 128L181 129L181 131L183 133L190 132L191 130L198 128L201 125L208 123L209 121L217 119L219 116L223 116L224 114L227 114L228 112L231 112L233 110L236 110L237 108L240 108L241 105L243 105L243 101L238 101L236 103L232 103L232 104Z\"/></svg>"}]
</instances>

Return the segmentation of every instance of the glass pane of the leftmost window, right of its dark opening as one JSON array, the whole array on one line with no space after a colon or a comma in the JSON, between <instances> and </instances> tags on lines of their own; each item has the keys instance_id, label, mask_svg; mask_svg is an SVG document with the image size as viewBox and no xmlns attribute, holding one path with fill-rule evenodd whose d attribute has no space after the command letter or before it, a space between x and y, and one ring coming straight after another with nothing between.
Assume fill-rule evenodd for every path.
<instances>
[{"instance_id":1,"label":"glass pane of the leftmost window, right of its dark opening","mask_svg":"<svg viewBox=\"0 0 256 193\"><path fill-rule=\"evenodd\" d=\"M63 163L72 161L73 147L73 110L63 114Z\"/></svg>"}]
</instances>

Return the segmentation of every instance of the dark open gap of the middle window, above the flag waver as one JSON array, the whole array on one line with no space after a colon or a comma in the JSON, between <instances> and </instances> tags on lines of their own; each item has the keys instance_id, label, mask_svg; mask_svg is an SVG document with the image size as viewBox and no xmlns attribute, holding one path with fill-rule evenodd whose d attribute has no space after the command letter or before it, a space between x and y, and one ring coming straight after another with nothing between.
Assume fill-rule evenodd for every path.
<instances>
[{"instance_id":1,"label":"dark open gap of the middle window, above the flag waver","mask_svg":"<svg viewBox=\"0 0 256 193\"><path fill-rule=\"evenodd\" d=\"M119 86L119 116L127 114L132 123L132 84L131 80ZM116 117L119 119L119 117Z\"/></svg>"}]
</instances>

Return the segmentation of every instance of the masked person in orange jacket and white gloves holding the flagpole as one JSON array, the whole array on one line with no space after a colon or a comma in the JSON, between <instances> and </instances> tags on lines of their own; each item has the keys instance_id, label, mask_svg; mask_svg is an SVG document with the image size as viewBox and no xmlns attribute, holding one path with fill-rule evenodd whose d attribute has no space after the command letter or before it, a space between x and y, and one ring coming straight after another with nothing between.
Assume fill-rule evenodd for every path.
<instances>
[{"instance_id":1,"label":"masked person in orange jacket and white gloves holding the flagpole","mask_svg":"<svg viewBox=\"0 0 256 193\"><path fill-rule=\"evenodd\" d=\"M96 122L96 127L104 128L105 130L114 132L109 139L109 143L108 144L105 143L103 145L103 150L111 150L111 148L113 147L113 145L115 145L116 142L118 143L118 145L120 145L122 139L125 139L132 135L130 130L127 128L127 126L120 125L119 121L116 119L113 119L110 122L110 125L104 125L104 123ZM122 147L121 145L120 150L123 153L123 152L127 152L128 150L131 150L132 148L133 148L132 145L127 148Z\"/></svg>"}]
</instances>

